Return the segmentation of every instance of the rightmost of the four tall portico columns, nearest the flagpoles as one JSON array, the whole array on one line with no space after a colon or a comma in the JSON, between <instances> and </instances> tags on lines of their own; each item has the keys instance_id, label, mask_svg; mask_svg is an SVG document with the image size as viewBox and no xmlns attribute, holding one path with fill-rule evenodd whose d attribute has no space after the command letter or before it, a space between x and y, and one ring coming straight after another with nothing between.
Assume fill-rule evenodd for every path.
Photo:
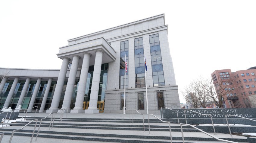
<instances>
[{"instance_id":1,"label":"rightmost of the four tall portico columns, nearest the flagpoles","mask_svg":"<svg viewBox=\"0 0 256 143\"><path fill-rule=\"evenodd\" d=\"M93 69L93 77L92 77L90 103L89 103L88 109L85 110L85 113L89 113L89 114L99 113L99 110L97 108L97 102L98 102L102 56L103 56L103 51L96 50L95 63L94 63L94 69Z\"/></svg>"}]
</instances>

